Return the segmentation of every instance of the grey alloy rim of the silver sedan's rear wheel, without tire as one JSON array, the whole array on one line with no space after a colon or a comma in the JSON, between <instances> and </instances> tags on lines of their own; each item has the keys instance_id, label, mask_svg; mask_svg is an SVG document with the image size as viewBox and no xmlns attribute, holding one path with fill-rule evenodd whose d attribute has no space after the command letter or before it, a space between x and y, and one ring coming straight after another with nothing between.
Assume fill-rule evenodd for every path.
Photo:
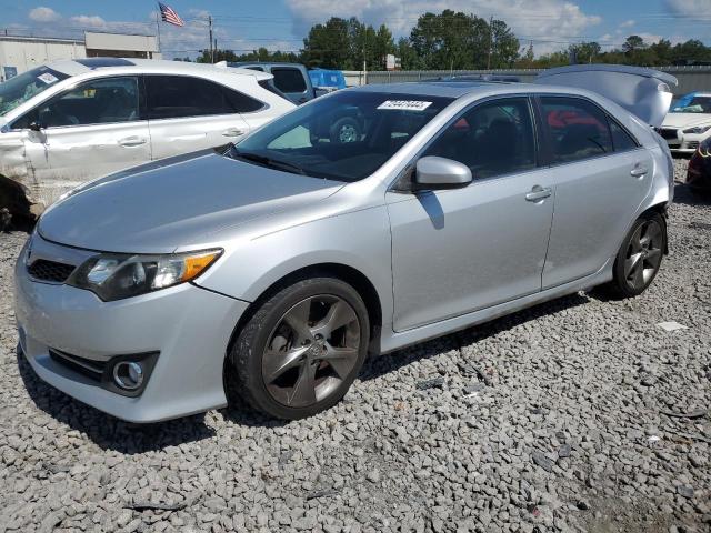
<instances>
[{"instance_id":1,"label":"grey alloy rim of the silver sedan's rear wheel, without tire","mask_svg":"<svg viewBox=\"0 0 711 533\"><path fill-rule=\"evenodd\" d=\"M635 291L654 278L662 261L663 230L657 220L648 220L632 234L624 259L624 279Z\"/></svg>"}]
</instances>

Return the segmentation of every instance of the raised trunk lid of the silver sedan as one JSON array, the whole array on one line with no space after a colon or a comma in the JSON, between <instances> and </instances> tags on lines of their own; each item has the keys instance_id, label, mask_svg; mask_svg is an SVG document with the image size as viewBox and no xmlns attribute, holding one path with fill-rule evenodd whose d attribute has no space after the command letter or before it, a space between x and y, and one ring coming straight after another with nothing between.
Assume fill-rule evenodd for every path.
<instances>
[{"instance_id":1,"label":"raised trunk lid of the silver sedan","mask_svg":"<svg viewBox=\"0 0 711 533\"><path fill-rule=\"evenodd\" d=\"M624 64L572 64L549 69L535 83L588 89L612 100L650 125L661 125L677 78L659 70Z\"/></svg>"}]
</instances>

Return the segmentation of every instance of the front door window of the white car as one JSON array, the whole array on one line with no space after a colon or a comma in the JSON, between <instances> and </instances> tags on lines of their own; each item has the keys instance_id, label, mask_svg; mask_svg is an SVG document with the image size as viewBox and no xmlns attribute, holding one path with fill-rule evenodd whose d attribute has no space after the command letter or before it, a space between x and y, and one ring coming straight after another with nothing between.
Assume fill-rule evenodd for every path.
<instances>
[{"instance_id":1,"label":"front door window of the white car","mask_svg":"<svg viewBox=\"0 0 711 533\"><path fill-rule=\"evenodd\" d=\"M104 78L82 83L40 107L37 119L46 128L139 120L138 79Z\"/></svg>"}]
</instances>

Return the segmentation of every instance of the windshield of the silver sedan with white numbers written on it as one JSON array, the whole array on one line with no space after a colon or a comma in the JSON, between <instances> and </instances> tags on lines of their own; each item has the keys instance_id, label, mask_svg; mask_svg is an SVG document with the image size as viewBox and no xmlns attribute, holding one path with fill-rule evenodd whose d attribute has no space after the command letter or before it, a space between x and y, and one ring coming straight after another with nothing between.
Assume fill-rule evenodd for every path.
<instances>
[{"instance_id":1,"label":"windshield of the silver sedan with white numbers written on it","mask_svg":"<svg viewBox=\"0 0 711 533\"><path fill-rule=\"evenodd\" d=\"M372 174L452 99L343 91L270 122L226 155L352 182Z\"/></svg>"}]
</instances>

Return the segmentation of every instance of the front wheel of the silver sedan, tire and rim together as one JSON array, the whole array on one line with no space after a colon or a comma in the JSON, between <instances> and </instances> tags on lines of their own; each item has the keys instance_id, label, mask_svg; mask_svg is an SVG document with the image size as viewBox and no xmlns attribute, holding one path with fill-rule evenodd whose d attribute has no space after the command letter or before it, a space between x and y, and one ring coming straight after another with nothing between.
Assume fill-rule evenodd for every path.
<instances>
[{"instance_id":1,"label":"front wheel of the silver sedan, tire and rim together","mask_svg":"<svg viewBox=\"0 0 711 533\"><path fill-rule=\"evenodd\" d=\"M239 403L239 395L286 420L338 403L368 354L370 323L358 292L336 278L310 278L258 305L228 354L230 403Z\"/></svg>"}]
</instances>

